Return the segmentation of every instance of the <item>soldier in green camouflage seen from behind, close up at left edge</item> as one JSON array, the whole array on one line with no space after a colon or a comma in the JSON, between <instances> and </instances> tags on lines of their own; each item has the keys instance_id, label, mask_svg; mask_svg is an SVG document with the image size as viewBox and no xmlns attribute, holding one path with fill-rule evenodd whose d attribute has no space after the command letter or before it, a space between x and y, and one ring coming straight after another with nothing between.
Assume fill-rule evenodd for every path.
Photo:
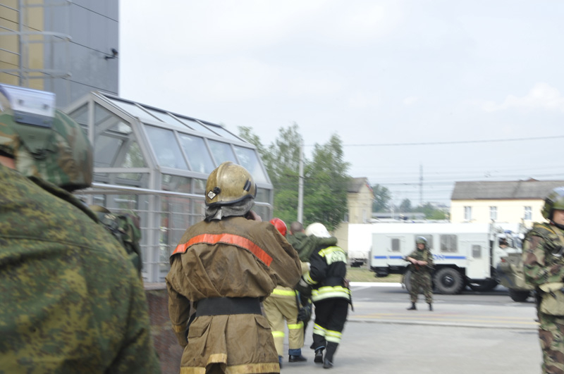
<instances>
[{"instance_id":1,"label":"soldier in green camouflage seen from behind, close up at left edge","mask_svg":"<svg viewBox=\"0 0 564 374\"><path fill-rule=\"evenodd\" d=\"M8 95L0 85L0 373L159 373L135 268L67 192L90 185L87 138L60 111L34 125Z\"/></svg>"}]
</instances>

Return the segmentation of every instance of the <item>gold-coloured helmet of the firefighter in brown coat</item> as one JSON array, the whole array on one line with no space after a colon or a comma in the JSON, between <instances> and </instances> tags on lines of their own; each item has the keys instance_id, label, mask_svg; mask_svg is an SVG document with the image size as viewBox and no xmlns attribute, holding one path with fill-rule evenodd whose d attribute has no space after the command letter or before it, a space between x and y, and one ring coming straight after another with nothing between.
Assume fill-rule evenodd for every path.
<instances>
[{"instance_id":1,"label":"gold-coloured helmet of the firefighter in brown coat","mask_svg":"<svg viewBox=\"0 0 564 374\"><path fill-rule=\"evenodd\" d=\"M209 174L206 182L206 205L223 206L245 199L255 199L257 185L243 166L226 161Z\"/></svg>"}]
</instances>

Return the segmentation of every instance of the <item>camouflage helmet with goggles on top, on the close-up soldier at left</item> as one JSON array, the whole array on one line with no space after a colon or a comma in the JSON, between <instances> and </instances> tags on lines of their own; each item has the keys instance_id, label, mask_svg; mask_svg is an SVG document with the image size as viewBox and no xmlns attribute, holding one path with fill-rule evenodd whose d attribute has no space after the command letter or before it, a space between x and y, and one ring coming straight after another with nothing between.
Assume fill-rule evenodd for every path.
<instances>
[{"instance_id":1,"label":"camouflage helmet with goggles on top, on the close-up soldier at left","mask_svg":"<svg viewBox=\"0 0 564 374\"><path fill-rule=\"evenodd\" d=\"M68 191L92 184L90 142L75 120L54 108L50 92L0 85L0 154L13 158L23 175Z\"/></svg>"}]
</instances>

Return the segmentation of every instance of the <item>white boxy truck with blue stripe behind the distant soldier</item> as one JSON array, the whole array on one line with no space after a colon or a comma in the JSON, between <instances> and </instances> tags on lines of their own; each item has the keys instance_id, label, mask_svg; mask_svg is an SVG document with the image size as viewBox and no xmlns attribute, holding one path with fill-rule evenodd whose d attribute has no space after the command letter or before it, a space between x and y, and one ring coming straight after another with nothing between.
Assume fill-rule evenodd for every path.
<instances>
[{"instance_id":1,"label":"white boxy truck with blue stripe behind the distant soldier","mask_svg":"<svg viewBox=\"0 0 564 374\"><path fill-rule=\"evenodd\" d=\"M349 248L352 238L356 237L358 242L369 237L370 270L379 277L404 274L403 283L407 289L410 287L410 271L403 258L415 250L417 237L426 238L435 263L434 288L442 294L458 294L466 286L486 291L498 285L496 267L500 258L507 254L507 249L499 247L500 240L503 238L510 247L515 247L513 232L519 230L519 225L374 223L356 229L357 232L349 231Z\"/></svg>"}]
</instances>

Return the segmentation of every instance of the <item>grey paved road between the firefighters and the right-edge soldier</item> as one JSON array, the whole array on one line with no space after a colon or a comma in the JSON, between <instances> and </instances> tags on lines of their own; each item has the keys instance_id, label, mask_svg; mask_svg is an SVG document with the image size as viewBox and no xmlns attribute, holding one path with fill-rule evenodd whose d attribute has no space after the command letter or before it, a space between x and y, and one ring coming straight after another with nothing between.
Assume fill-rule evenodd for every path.
<instances>
[{"instance_id":1,"label":"grey paved road between the firefighters and the right-edge soldier","mask_svg":"<svg viewBox=\"0 0 564 374\"><path fill-rule=\"evenodd\" d=\"M540 373L541 351L534 304L514 303L505 289L435 295L435 311L407 311L397 285L353 285L350 312L335 367L313 363L308 326L307 363L288 363L282 373Z\"/></svg>"}]
</instances>

